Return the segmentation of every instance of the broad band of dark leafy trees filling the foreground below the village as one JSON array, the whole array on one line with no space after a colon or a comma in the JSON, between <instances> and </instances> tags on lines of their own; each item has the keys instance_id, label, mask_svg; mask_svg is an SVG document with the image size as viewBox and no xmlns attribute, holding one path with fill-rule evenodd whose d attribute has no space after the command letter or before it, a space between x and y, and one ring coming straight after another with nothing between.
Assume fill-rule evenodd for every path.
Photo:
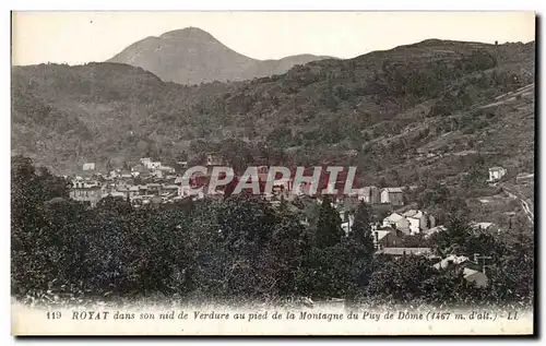
<instances>
[{"instance_id":1,"label":"broad band of dark leafy trees filling the foreground below the village","mask_svg":"<svg viewBox=\"0 0 546 346\"><path fill-rule=\"evenodd\" d=\"M432 243L438 254L491 256L490 284L437 271L423 256L375 254L366 204L345 237L325 200L316 220L254 196L133 208L102 200L96 208L68 200L67 181L28 159L12 158L12 294L202 301L272 301L329 297L352 301L531 303L533 239L506 242L473 234L461 218ZM523 237L523 235L522 235Z\"/></svg>"}]
</instances>

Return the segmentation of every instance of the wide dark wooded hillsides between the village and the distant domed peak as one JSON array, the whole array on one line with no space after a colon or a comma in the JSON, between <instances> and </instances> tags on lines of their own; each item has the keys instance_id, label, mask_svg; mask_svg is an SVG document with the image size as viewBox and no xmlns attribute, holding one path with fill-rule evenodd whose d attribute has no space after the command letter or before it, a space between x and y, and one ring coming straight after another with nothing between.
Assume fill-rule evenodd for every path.
<instances>
[{"instance_id":1,"label":"wide dark wooded hillsides between the village and the distant domed peak","mask_svg":"<svg viewBox=\"0 0 546 346\"><path fill-rule=\"evenodd\" d=\"M534 59L534 43L431 39L199 86L111 62L15 67L12 151L57 172L210 150L355 164L369 183L461 179L478 162L532 171Z\"/></svg>"}]
</instances>

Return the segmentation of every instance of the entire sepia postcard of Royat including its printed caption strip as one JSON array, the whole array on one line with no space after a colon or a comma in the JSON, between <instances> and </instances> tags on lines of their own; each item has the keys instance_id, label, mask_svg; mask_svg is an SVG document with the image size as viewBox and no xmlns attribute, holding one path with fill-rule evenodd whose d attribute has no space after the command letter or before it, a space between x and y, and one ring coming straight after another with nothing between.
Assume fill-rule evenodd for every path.
<instances>
[{"instance_id":1,"label":"entire sepia postcard of Royat including its printed caption strip","mask_svg":"<svg viewBox=\"0 0 546 346\"><path fill-rule=\"evenodd\" d=\"M11 12L13 335L536 331L534 12Z\"/></svg>"}]
</instances>

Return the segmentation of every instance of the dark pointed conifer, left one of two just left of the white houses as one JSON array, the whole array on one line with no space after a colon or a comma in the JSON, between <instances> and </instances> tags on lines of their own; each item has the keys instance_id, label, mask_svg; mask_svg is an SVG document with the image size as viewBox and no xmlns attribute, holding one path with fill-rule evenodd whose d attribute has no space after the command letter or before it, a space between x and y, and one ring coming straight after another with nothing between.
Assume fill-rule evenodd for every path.
<instances>
[{"instance_id":1,"label":"dark pointed conifer, left one of two just left of the white houses","mask_svg":"<svg viewBox=\"0 0 546 346\"><path fill-rule=\"evenodd\" d=\"M329 196L324 196L317 222L316 246L323 249L333 247L341 241L345 232L341 228L340 214L330 202Z\"/></svg>"}]
</instances>

